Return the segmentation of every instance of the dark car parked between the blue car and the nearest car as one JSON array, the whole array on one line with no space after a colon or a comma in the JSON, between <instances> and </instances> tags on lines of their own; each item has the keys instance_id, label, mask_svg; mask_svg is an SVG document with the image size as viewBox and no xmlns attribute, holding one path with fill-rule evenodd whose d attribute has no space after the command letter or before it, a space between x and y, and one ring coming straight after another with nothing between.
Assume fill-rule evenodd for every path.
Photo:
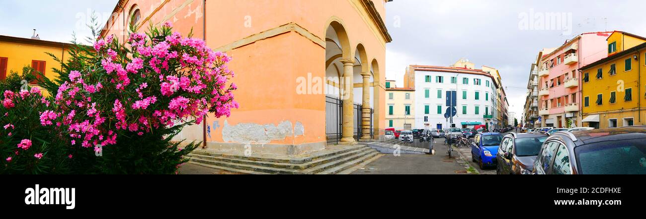
<instances>
[{"instance_id":1,"label":"dark car parked between the blue car and the nearest car","mask_svg":"<svg viewBox=\"0 0 646 219\"><path fill-rule=\"evenodd\" d=\"M535 133L509 133L503 138L496 155L498 166L496 174L529 175L534 169L534 160L538 156L547 135Z\"/></svg>"}]
</instances>

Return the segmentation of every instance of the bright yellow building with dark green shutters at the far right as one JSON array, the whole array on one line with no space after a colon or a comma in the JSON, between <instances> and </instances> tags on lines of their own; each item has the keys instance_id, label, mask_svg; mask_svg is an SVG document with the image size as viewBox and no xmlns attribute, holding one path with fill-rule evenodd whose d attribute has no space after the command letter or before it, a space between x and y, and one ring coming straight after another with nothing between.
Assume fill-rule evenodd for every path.
<instances>
[{"instance_id":1,"label":"bright yellow building with dark green shutters at the far right","mask_svg":"<svg viewBox=\"0 0 646 219\"><path fill-rule=\"evenodd\" d=\"M614 32L608 57L583 68L583 126L612 128L646 124L642 75L646 75L646 38ZM641 90L644 88L644 90Z\"/></svg>"}]
</instances>

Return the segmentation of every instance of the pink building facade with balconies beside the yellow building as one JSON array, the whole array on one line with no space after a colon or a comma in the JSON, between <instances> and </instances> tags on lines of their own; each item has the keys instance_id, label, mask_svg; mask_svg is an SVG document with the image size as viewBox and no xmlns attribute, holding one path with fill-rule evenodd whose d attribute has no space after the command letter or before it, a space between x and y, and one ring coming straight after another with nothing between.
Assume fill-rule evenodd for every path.
<instances>
[{"instance_id":1,"label":"pink building facade with balconies beside the yellow building","mask_svg":"<svg viewBox=\"0 0 646 219\"><path fill-rule=\"evenodd\" d=\"M582 126L583 74L579 68L607 57L606 39L610 33L583 33L541 57L538 86L542 127Z\"/></svg>"}]
</instances>

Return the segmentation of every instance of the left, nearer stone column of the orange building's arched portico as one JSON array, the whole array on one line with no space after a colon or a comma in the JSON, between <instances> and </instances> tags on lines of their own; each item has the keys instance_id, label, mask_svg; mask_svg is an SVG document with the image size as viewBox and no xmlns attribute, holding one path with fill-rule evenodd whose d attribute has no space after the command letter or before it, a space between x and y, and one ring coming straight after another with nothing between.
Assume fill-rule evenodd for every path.
<instances>
[{"instance_id":1,"label":"left, nearer stone column of the orange building's arched portico","mask_svg":"<svg viewBox=\"0 0 646 219\"><path fill-rule=\"evenodd\" d=\"M352 59L344 59L341 61L343 63L343 77L341 80L344 80L343 86L343 123L341 128L341 140L339 144L342 145L354 145L357 144L357 141L354 138L354 126L355 126L355 108L354 108L354 97L353 91L355 84L354 79L354 65L355 61Z\"/></svg>"}]
</instances>

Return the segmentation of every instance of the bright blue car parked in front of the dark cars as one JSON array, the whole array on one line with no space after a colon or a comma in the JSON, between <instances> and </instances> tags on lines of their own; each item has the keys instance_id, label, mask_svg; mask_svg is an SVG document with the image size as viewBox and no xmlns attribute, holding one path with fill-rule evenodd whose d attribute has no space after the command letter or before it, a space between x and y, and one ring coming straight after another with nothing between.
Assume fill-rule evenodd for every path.
<instances>
[{"instance_id":1,"label":"bright blue car parked in front of the dark cars","mask_svg":"<svg viewBox=\"0 0 646 219\"><path fill-rule=\"evenodd\" d=\"M495 167L497 165L496 154L498 146L503 141L500 133L480 133L475 135L471 146L471 159L477 162L480 169Z\"/></svg>"}]
</instances>

